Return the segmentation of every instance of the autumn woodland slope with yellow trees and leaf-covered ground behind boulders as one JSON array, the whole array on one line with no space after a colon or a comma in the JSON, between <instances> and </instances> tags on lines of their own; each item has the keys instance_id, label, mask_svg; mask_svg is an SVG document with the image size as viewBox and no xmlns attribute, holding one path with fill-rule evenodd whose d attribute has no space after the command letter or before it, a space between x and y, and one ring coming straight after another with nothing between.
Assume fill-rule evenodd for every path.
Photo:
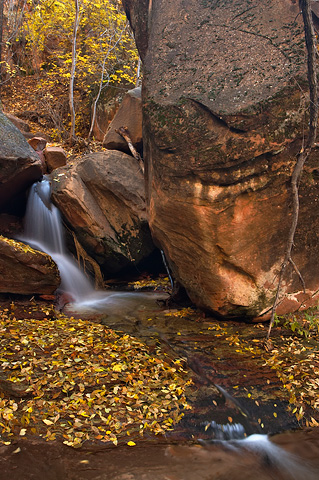
<instances>
[{"instance_id":1,"label":"autumn woodland slope with yellow trees and leaf-covered ground behind boulders","mask_svg":"<svg viewBox=\"0 0 319 480\"><path fill-rule=\"evenodd\" d=\"M99 100L136 84L138 53L117 0L0 0L5 112L60 143L91 139Z\"/></svg>"}]
</instances>

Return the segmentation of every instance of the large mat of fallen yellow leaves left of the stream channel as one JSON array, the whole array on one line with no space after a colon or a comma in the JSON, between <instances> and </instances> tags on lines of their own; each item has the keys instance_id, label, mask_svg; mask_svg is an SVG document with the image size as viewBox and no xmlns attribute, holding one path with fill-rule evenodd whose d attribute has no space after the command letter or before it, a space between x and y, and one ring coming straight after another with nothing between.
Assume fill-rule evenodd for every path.
<instances>
[{"instance_id":1,"label":"large mat of fallen yellow leaves left of the stream channel","mask_svg":"<svg viewBox=\"0 0 319 480\"><path fill-rule=\"evenodd\" d=\"M190 408L183 363L53 307L0 310L0 442L36 434L77 447L172 429ZM30 313L30 311L29 311ZM133 441L128 443L133 445Z\"/></svg>"}]
</instances>

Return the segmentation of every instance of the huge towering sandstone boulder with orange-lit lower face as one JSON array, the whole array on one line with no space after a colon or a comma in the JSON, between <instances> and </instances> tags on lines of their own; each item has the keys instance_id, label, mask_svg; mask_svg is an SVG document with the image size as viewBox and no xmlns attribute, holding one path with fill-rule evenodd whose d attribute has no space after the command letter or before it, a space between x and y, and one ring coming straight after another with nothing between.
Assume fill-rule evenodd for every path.
<instances>
[{"instance_id":1,"label":"huge towering sandstone boulder with orange-lit lower face","mask_svg":"<svg viewBox=\"0 0 319 480\"><path fill-rule=\"evenodd\" d=\"M153 237L200 307L267 312L291 224L289 181L307 128L306 54L295 0L123 0L144 63L143 140ZM319 288L318 154L281 311Z\"/></svg>"}]
</instances>

